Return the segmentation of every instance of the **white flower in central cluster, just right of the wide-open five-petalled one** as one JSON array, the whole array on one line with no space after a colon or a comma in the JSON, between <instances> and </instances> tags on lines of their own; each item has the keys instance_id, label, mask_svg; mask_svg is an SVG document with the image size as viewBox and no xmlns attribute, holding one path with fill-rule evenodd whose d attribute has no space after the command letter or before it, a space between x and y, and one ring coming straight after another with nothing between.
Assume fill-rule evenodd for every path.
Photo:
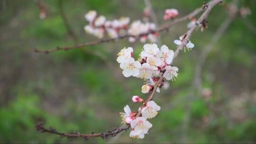
<instances>
[{"instance_id":1,"label":"white flower in central cluster, just right of the wide-open five-petalled one","mask_svg":"<svg viewBox=\"0 0 256 144\"><path fill-rule=\"evenodd\" d=\"M141 79L150 79L153 77L153 74L154 69L148 63L143 63L140 68L139 75L137 77Z\"/></svg>"}]
</instances>

